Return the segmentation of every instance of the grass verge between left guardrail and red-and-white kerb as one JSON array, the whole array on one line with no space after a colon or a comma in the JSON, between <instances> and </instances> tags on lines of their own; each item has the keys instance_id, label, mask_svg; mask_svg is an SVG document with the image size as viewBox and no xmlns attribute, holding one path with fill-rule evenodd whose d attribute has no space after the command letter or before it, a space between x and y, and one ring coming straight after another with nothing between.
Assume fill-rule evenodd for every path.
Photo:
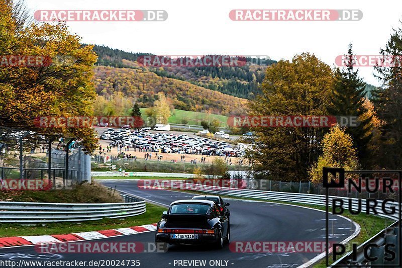
<instances>
[{"instance_id":1,"label":"grass verge between left guardrail and red-and-white kerb","mask_svg":"<svg viewBox=\"0 0 402 268\"><path fill-rule=\"evenodd\" d=\"M0 237L24 236L24 235L51 235L69 234L76 232L89 232L125 228L144 224L156 223L160 220L162 212L166 208L147 203L147 211L138 216L123 219L102 219L86 221L82 223L47 223L45 226L24 226L19 224L2 224Z\"/></svg>"}]
</instances>

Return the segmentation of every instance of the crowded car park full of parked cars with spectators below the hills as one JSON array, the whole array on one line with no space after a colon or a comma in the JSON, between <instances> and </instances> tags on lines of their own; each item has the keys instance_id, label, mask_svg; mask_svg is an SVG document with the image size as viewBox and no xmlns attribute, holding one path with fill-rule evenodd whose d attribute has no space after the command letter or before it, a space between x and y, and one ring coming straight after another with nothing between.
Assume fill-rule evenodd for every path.
<instances>
[{"instance_id":1,"label":"crowded car park full of parked cars with spectators below the hills","mask_svg":"<svg viewBox=\"0 0 402 268\"><path fill-rule=\"evenodd\" d=\"M228 164L243 164L244 146L216 141L188 132L96 127L99 150L103 156L124 158L211 163L225 157ZM148 156L147 156L148 154Z\"/></svg>"}]
</instances>

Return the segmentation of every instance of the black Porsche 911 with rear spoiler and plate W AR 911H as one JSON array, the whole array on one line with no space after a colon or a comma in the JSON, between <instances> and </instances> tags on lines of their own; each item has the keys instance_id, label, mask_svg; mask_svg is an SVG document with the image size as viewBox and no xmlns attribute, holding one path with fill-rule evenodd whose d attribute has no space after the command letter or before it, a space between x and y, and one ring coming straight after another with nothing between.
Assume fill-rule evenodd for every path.
<instances>
[{"instance_id":1,"label":"black Porsche 911 with rear spoiler and plate W AR 911H","mask_svg":"<svg viewBox=\"0 0 402 268\"><path fill-rule=\"evenodd\" d=\"M207 244L223 248L230 224L219 206L209 200L179 200L170 204L158 222L155 241L168 244Z\"/></svg>"}]
</instances>

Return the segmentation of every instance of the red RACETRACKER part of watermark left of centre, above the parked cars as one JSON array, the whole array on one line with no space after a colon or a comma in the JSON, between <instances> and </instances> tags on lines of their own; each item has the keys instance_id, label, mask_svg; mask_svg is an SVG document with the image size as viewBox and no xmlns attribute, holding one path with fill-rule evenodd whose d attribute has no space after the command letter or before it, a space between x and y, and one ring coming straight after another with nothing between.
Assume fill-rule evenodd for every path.
<instances>
[{"instance_id":1,"label":"red RACETRACKER part of watermark left of centre, above the parked cars","mask_svg":"<svg viewBox=\"0 0 402 268\"><path fill-rule=\"evenodd\" d=\"M140 128L144 121L140 116L43 116L34 119L37 128L89 128L92 126Z\"/></svg>"}]
</instances>

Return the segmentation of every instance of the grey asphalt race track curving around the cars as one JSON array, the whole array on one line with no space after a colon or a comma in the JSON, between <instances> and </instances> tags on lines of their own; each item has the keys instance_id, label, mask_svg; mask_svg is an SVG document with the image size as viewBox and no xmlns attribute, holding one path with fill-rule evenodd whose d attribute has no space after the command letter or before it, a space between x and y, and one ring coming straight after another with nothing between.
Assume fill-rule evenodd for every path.
<instances>
[{"instance_id":1,"label":"grey asphalt race track curving around the cars","mask_svg":"<svg viewBox=\"0 0 402 268\"><path fill-rule=\"evenodd\" d=\"M136 180L103 180L104 185L117 187L126 193L142 197L160 205L169 205L179 199L190 199L191 194L163 191L143 190L137 188ZM317 210L300 208L274 203L227 200L230 203L231 242L234 241L325 241L325 213ZM330 216L336 226L332 241L342 241L355 230L350 221ZM94 240L92 240L94 241ZM143 242L145 245L154 242L154 232L139 233L119 237L106 238L103 242ZM147 247L147 246L146 246ZM33 246L0 249L0 260L6 259L52 259L52 260L139 260L140 267L179 267L176 260L207 260L204 267L211 267L210 260L227 261L229 267L297 267L318 253L237 253L229 250L228 245L222 250L207 246L170 245L167 252L136 254L48 254L37 253ZM115 265L116 266L116 265ZM115 267L105 265L103 267ZM36 266L30 266L36 267ZM181 266L183 267L183 266ZM194 266L187 266L194 267Z\"/></svg>"}]
</instances>

